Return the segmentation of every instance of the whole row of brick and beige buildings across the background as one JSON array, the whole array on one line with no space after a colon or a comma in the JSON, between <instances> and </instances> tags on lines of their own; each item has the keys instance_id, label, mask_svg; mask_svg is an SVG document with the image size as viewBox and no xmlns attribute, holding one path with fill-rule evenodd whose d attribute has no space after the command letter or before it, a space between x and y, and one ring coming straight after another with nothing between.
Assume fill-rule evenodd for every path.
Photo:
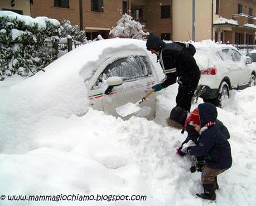
<instances>
[{"instance_id":1,"label":"whole row of brick and beige buildings across the background","mask_svg":"<svg viewBox=\"0 0 256 206\"><path fill-rule=\"evenodd\" d=\"M11 2L15 6L11 6ZM122 14L128 13L146 30L173 41L212 39L253 44L255 0L1 0L0 9L32 17L69 19L89 39L108 38ZM194 3L194 4L193 4ZM2 7L2 8L1 8ZM193 13L195 14L193 16Z\"/></svg>"}]
</instances>

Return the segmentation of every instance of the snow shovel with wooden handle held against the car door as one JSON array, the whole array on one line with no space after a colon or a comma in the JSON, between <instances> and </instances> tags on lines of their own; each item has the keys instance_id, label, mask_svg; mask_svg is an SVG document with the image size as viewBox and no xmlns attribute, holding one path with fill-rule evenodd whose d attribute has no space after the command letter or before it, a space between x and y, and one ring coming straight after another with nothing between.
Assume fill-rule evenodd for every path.
<instances>
[{"instance_id":1,"label":"snow shovel with wooden handle held against the car door","mask_svg":"<svg viewBox=\"0 0 256 206\"><path fill-rule=\"evenodd\" d=\"M154 89L150 90L149 92L147 92L146 95L144 95L142 97L141 100L137 101L135 104L132 103L132 102L129 102L125 105L122 105L122 106L119 106L117 108L115 108L115 111L117 111L117 114L119 114L120 116L122 117L125 117L125 116L128 116L128 115L131 115L135 112L138 112L139 110L141 110L141 107L139 107L139 105L147 99L147 97L149 95L151 95L152 93L154 92Z\"/></svg>"}]
</instances>

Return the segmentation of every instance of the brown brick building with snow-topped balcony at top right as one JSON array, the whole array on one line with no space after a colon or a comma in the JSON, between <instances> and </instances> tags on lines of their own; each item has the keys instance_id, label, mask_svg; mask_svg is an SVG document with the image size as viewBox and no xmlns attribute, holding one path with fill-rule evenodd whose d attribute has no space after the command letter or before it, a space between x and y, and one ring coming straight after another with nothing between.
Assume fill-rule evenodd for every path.
<instances>
[{"instance_id":1,"label":"brown brick building with snow-topped balcony at top right","mask_svg":"<svg viewBox=\"0 0 256 206\"><path fill-rule=\"evenodd\" d=\"M214 39L224 43L248 44L255 42L256 1L255 0L219 0L219 16L227 21L214 22ZM229 21L230 19L234 20Z\"/></svg>"}]
</instances>

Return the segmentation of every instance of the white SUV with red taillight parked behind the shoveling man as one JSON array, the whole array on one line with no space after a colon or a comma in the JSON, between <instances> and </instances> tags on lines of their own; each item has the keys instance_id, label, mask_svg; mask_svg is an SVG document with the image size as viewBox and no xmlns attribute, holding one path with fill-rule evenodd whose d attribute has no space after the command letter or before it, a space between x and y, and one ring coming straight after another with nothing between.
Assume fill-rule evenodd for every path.
<instances>
[{"instance_id":1,"label":"white SUV with red taillight parked behind the shoveling man","mask_svg":"<svg viewBox=\"0 0 256 206\"><path fill-rule=\"evenodd\" d=\"M252 60L241 55L235 47L211 41L195 43L195 47L195 59L201 70L196 97L221 105L231 89L255 85L255 70L249 66Z\"/></svg>"}]
</instances>

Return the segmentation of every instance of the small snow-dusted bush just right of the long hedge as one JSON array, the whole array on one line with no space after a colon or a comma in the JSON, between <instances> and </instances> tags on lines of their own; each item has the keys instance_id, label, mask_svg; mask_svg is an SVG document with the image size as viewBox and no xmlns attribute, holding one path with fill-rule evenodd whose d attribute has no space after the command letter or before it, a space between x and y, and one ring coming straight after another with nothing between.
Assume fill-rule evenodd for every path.
<instances>
[{"instance_id":1,"label":"small snow-dusted bush just right of the long hedge","mask_svg":"<svg viewBox=\"0 0 256 206\"><path fill-rule=\"evenodd\" d=\"M75 25L72 26L69 20L61 21L61 26L64 28L63 30L63 37L67 37L70 35L74 41L78 42L85 42L86 41L86 35L85 31L80 31L79 26Z\"/></svg>"}]
</instances>

